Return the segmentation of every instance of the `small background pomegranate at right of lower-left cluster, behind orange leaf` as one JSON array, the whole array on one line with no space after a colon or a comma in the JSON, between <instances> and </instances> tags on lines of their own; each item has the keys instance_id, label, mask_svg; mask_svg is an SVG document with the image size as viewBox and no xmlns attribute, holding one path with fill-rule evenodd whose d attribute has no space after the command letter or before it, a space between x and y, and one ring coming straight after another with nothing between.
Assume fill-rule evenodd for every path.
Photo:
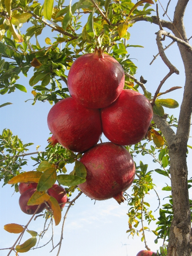
<instances>
[{"instance_id":1,"label":"small background pomegranate at right of lower-left cluster, behind orange leaf","mask_svg":"<svg viewBox=\"0 0 192 256\"><path fill-rule=\"evenodd\" d=\"M47 190L48 195L54 197L60 205L61 209L65 206L64 203L67 202L67 194L64 187L54 184L50 189ZM47 209L47 207L46 207Z\"/></svg>"}]
</instances>

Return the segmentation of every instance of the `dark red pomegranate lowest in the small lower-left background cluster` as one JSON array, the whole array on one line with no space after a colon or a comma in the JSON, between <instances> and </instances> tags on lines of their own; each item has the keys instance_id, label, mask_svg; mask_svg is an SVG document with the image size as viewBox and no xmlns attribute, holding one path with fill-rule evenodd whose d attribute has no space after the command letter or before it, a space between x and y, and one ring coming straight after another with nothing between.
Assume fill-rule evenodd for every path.
<instances>
[{"instance_id":1,"label":"dark red pomegranate lowest in the small lower-left background cluster","mask_svg":"<svg viewBox=\"0 0 192 256\"><path fill-rule=\"evenodd\" d=\"M23 194L20 195L19 206L22 212L32 215L37 210L38 205L31 205L31 206L27 205L29 198L35 193L35 191L37 191L37 189L34 189L34 188L27 189L25 192L23 192ZM46 207L46 204L44 203L41 204L40 209L37 211L37 213L42 212L45 209L45 207Z\"/></svg>"}]
</instances>

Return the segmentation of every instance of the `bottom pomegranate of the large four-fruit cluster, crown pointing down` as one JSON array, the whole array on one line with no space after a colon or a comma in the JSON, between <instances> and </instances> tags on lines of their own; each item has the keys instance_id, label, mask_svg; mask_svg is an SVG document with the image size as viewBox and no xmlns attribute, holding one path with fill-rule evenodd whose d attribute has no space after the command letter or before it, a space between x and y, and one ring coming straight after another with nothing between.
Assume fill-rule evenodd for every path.
<instances>
[{"instance_id":1,"label":"bottom pomegranate of the large four-fruit cluster, crown pointing down","mask_svg":"<svg viewBox=\"0 0 192 256\"><path fill-rule=\"evenodd\" d=\"M135 177L135 165L130 153L111 142L100 143L84 153L80 159L86 169L85 183L79 188L95 200L114 198L124 201L123 191L128 189Z\"/></svg>"}]
</instances>

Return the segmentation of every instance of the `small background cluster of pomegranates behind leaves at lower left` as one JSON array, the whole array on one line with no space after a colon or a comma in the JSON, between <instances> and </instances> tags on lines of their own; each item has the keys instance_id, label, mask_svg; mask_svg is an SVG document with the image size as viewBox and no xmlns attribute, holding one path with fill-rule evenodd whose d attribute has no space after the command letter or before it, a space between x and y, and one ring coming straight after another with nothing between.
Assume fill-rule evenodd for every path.
<instances>
[{"instance_id":1,"label":"small background cluster of pomegranates behind leaves at lower left","mask_svg":"<svg viewBox=\"0 0 192 256\"><path fill-rule=\"evenodd\" d=\"M37 184L38 183L20 183L18 186L21 194L19 198L19 205L21 210L26 214L34 214L34 212L37 210L38 205L27 205L30 197L35 193L35 191L37 191ZM61 209L65 206L65 203L67 202L67 194L64 187L54 184L50 189L47 190L47 193L58 201ZM50 208L43 203L41 204L37 213L42 212L44 209L50 210Z\"/></svg>"}]
</instances>

